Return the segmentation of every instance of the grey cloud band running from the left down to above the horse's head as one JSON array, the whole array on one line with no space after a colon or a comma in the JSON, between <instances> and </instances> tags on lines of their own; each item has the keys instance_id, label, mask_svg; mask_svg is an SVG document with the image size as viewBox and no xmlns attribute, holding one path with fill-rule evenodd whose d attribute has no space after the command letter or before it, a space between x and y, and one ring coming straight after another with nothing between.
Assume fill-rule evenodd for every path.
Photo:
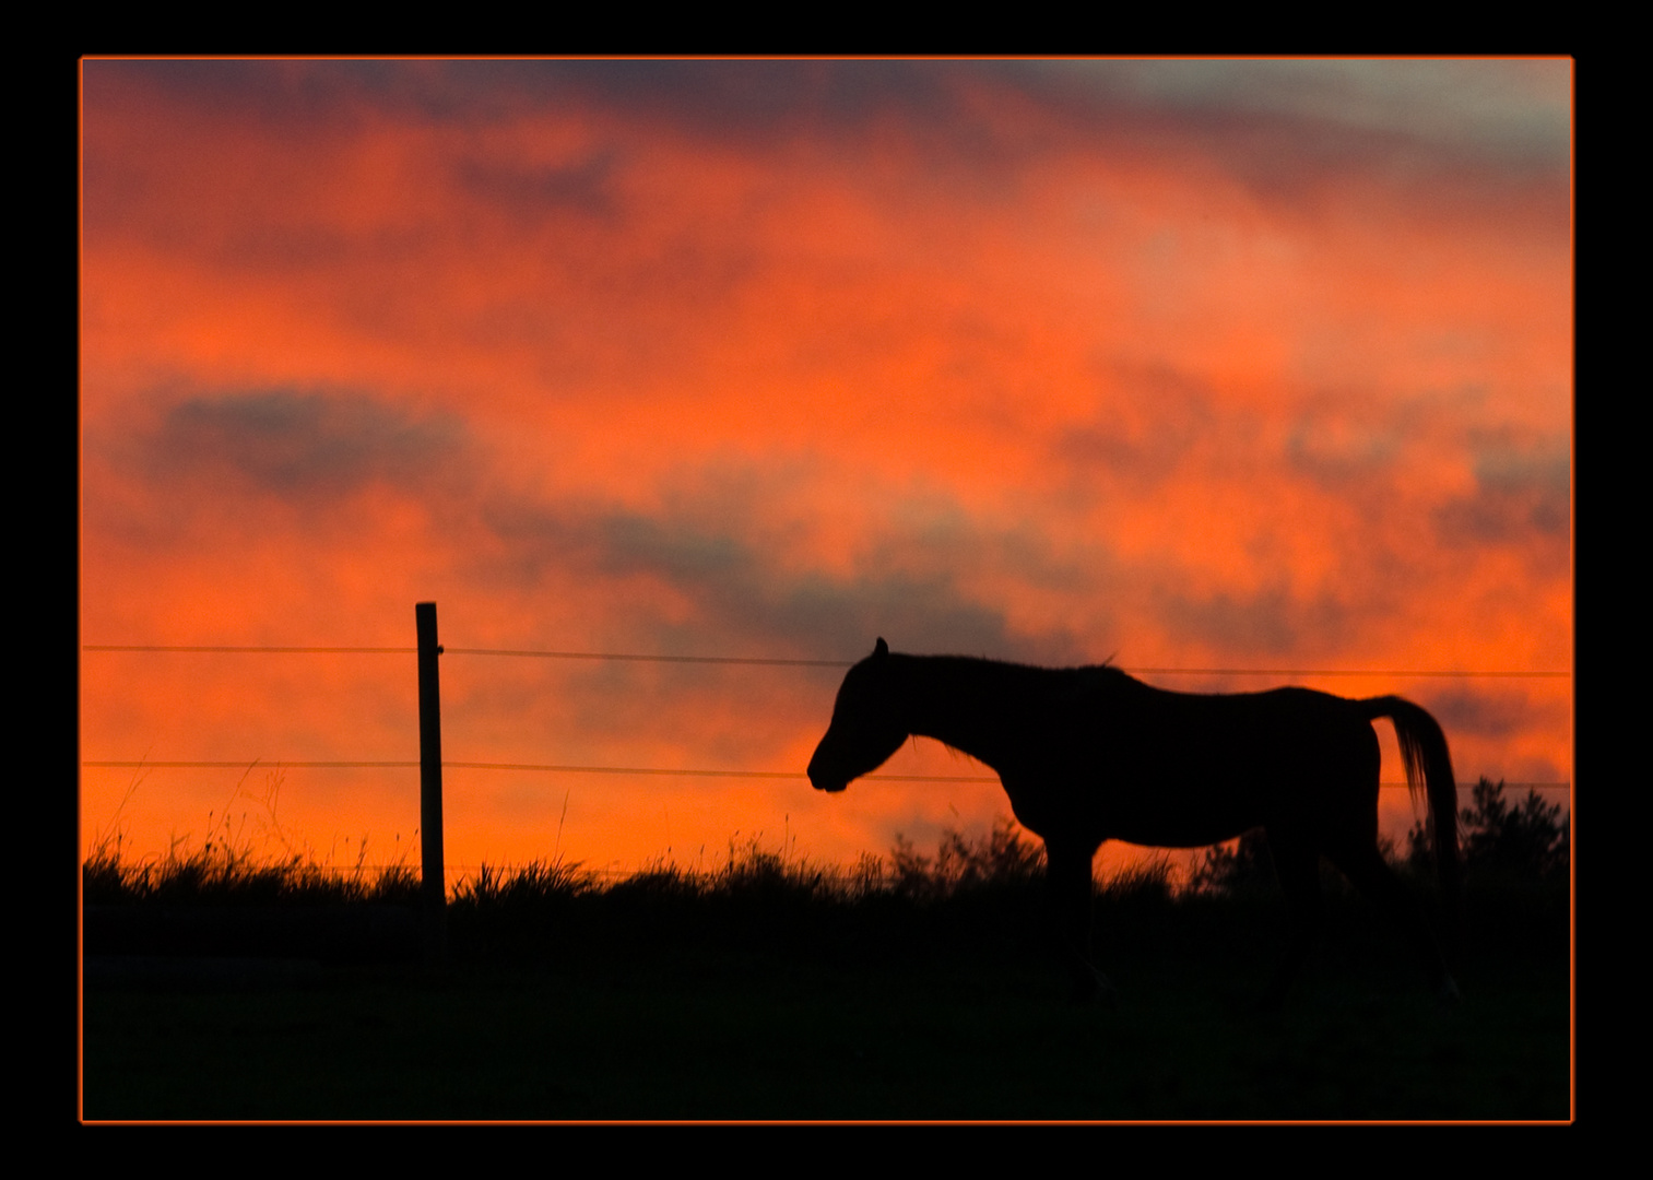
<instances>
[{"instance_id":1,"label":"grey cloud band running from the left down to above the horse's head","mask_svg":"<svg viewBox=\"0 0 1653 1180\"><path fill-rule=\"evenodd\" d=\"M984 529L947 504L914 507L883 540L868 539L856 572L828 575L785 564L772 535L777 526L762 522L774 486L760 474L679 488L658 514L547 504L491 479L484 450L458 421L359 393L192 397L154 430L104 440L99 450L147 483L149 514L172 521L174 532L205 507L253 522L269 504L314 527L342 524L341 509L354 494L388 486L445 521L443 534L460 539L461 577L491 590L532 590L552 575L669 587L689 607L684 621L651 608L622 621L660 651L704 653L714 643L851 658L878 635L911 651L1036 663L1071 661L1081 651L1066 633L1017 633L1005 607L967 588L957 570L1010 570L1045 587L1071 587L1083 572L1055 559L1040 537Z\"/></svg>"}]
</instances>

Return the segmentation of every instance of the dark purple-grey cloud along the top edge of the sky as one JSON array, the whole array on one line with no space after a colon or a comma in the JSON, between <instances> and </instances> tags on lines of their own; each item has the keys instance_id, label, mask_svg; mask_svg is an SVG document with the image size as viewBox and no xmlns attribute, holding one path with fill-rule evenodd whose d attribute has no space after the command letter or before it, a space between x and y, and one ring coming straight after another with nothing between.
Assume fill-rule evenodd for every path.
<instances>
[{"instance_id":1,"label":"dark purple-grey cloud along the top edge of the sky","mask_svg":"<svg viewBox=\"0 0 1653 1180\"><path fill-rule=\"evenodd\" d=\"M901 127L921 167L967 169L979 193L1053 150L1195 147L1274 198L1329 175L1384 190L1461 177L1483 203L1539 197L1567 228L1565 61L93 61L89 114L132 86L281 136L350 132L369 114L486 126L605 112L765 150ZM570 182L585 183L527 180L557 198Z\"/></svg>"}]
</instances>

